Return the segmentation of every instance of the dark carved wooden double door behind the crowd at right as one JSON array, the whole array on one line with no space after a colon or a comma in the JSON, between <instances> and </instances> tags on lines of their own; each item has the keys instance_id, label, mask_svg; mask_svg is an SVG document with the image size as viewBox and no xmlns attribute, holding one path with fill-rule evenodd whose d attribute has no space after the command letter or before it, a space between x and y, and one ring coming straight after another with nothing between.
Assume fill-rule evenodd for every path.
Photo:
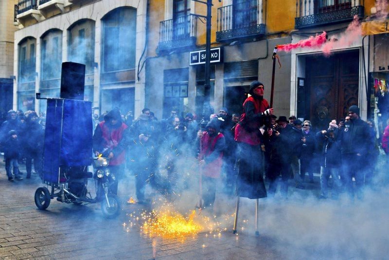
<instances>
[{"instance_id":1,"label":"dark carved wooden double door behind the crowd at right","mask_svg":"<svg viewBox=\"0 0 389 260\"><path fill-rule=\"evenodd\" d=\"M332 119L344 118L348 108L358 105L359 51L306 58L305 118L313 127L327 129Z\"/></svg>"}]
</instances>

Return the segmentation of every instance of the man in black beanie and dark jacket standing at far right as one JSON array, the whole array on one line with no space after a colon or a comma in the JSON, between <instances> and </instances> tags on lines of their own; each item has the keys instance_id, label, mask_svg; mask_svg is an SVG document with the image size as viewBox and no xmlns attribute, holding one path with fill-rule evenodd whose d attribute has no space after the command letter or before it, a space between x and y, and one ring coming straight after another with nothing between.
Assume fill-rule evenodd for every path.
<instances>
[{"instance_id":1,"label":"man in black beanie and dark jacket standing at far right","mask_svg":"<svg viewBox=\"0 0 389 260\"><path fill-rule=\"evenodd\" d=\"M364 185L365 167L369 160L367 152L374 146L370 138L370 127L359 116L359 108L355 105L348 110L350 122L345 125L339 123L339 137L343 178L349 195L354 198L353 176L355 178L355 191L357 198L362 198L362 188Z\"/></svg>"}]
</instances>

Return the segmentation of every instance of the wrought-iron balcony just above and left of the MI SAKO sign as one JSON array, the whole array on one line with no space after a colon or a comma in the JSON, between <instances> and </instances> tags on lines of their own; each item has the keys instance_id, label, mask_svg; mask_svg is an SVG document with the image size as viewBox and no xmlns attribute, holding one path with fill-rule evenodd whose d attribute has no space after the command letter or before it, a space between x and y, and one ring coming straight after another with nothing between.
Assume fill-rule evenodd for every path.
<instances>
[{"instance_id":1,"label":"wrought-iron balcony just above and left of the MI SAKO sign","mask_svg":"<svg viewBox=\"0 0 389 260\"><path fill-rule=\"evenodd\" d=\"M196 44L197 16L190 14L159 23L159 51L190 48Z\"/></svg>"}]
</instances>

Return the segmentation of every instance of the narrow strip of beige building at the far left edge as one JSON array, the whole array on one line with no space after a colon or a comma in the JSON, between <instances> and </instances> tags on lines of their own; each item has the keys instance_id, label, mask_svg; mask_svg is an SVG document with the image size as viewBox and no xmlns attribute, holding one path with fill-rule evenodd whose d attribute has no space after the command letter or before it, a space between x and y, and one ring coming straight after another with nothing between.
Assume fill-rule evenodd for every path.
<instances>
[{"instance_id":1,"label":"narrow strip of beige building at the far left edge","mask_svg":"<svg viewBox=\"0 0 389 260\"><path fill-rule=\"evenodd\" d=\"M14 9L17 0L0 1L0 121L12 109L14 85Z\"/></svg>"}]
</instances>

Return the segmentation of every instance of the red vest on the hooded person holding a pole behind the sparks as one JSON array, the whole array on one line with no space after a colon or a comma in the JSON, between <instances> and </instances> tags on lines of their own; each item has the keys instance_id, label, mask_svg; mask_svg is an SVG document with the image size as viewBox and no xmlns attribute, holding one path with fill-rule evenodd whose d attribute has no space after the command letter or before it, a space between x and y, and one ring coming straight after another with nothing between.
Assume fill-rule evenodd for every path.
<instances>
[{"instance_id":1,"label":"red vest on the hooded person holding a pole behind the sparks","mask_svg":"<svg viewBox=\"0 0 389 260\"><path fill-rule=\"evenodd\" d=\"M217 140L220 138L224 138L222 133L218 133L215 137L211 137L208 135L208 132L203 132L203 136L201 137L201 153L198 155L199 160L203 160L204 157L207 158L214 149ZM203 168L203 175L211 177L211 178L219 178L220 172L223 164L223 152L220 152L219 156L213 160L212 162L207 162Z\"/></svg>"}]
</instances>

